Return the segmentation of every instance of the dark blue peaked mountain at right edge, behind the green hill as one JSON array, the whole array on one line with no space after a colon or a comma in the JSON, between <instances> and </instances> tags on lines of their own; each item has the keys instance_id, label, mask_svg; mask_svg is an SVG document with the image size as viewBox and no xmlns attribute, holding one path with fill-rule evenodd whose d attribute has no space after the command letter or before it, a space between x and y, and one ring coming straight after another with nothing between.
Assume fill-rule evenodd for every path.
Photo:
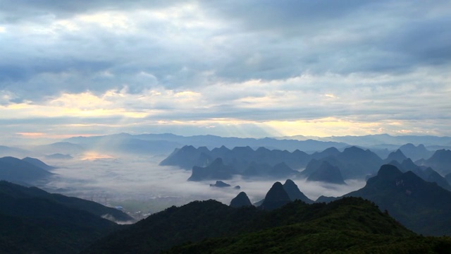
<instances>
[{"instance_id":1,"label":"dark blue peaked mountain at right edge, behind the green hill","mask_svg":"<svg viewBox=\"0 0 451 254\"><path fill-rule=\"evenodd\" d=\"M366 186L345 196L371 200L419 234L451 235L451 192L416 176L383 165Z\"/></svg>"}]
</instances>

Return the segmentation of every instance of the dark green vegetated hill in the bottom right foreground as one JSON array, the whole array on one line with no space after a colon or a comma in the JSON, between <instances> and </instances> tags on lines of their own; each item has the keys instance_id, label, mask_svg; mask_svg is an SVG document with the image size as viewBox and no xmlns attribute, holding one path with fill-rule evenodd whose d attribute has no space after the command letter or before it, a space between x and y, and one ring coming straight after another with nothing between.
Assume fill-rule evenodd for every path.
<instances>
[{"instance_id":1,"label":"dark green vegetated hill in the bottom right foreground","mask_svg":"<svg viewBox=\"0 0 451 254\"><path fill-rule=\"evenodd\" d=\"M318 217L306 216L301 222L238 236L185 243L163 253L449 253L451 238L409 236L397 229L396 222L384 221L383 214L376 215L376 207L365 207L361 201L345 200L354 205L335 201L335 207L321 207L327 212L318 207Z\"/></svg>"}]
</instances>

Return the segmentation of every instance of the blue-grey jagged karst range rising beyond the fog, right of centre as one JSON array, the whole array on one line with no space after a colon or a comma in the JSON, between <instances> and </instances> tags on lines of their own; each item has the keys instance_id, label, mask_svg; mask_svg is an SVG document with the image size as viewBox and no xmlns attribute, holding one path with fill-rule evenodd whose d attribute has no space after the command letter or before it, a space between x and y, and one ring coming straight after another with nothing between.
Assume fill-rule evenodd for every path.
<instances>
[{"instance_id":1,"label":"blue-grey jagged karst range rising beyond the fog, right of centre","mask_svg":"<svg viewBox=\"0 0 451 254\"><path fill-rule=\"evenodd\" d=\"M322 158L321 158L322 157ZM315 159L317 158L317 159ZM216 162L221 159L221 163ZM317 161L319 164L312 164ZM328 171L333 170L334 176L328 179L328 173L315 173L324 161L328 162ZM251 147L227 147L209 150L206 147L195 148L186 145L160 162L161 166L178 166L184 169L192 168L190 181L202 180L226 180L233 174L247 177L265 177L269 179L287 179L311 174L312 181L328 181L330 183L343 184L343 179L364 179L366 176L376 174L383 164L383 160L370 150L359 147L347 147L343 152L336 148L328 148L323 152L315 152L308 155L306 152L295 150L268 150L259 147L253 150ZM304 171L295 169L305 168ZM338 167L338 170L337 168ZM226 169L227 168L227 169ZM221 171L221 174L218 174ZM323 179L323 180L321 180Z\"/></svg>"}]
</instances>

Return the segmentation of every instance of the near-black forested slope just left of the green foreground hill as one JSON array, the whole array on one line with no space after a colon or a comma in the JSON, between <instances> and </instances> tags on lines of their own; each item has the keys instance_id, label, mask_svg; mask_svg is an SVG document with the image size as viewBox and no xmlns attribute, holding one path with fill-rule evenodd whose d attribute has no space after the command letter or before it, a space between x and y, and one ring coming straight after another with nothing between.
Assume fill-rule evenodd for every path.
<instances>
[{"instance_id":1,"label":"near-black forested slope just left of the green foreground hill","mask_svg":"<svg viewBox=\"0 0 451 254\"><path fill-rule=\"evenodd\" d=\"M186 241L243 231L261 212L253 206L233 208L216 200L194 201L152 214L82 253L159 253Z\"/></svg>"}]
</instances>

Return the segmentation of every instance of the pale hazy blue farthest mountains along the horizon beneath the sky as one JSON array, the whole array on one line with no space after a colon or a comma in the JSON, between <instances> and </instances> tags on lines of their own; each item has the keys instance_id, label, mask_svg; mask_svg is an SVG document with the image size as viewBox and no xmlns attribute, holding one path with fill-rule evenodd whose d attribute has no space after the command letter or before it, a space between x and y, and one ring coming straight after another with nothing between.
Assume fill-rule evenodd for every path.
<instances>
[{"instance_id":1,"label":"pale hazy blue farthest mountains along the horizon beneath the sky","mask_svg":"<svg viewBox=\"0 0 451 254\"><path fill-rule=\"evenodd\" d=\"M421 145L424 144L424 145ZM390 152L400 148L404 155L416 161L431 157L431 151L451 149L450 137L435 136L391 136L366 135L344 137L303 137L291 136L283 138L225 138L216 135L181 136L166 134L131 135L119 133L113 135L98 135L90 137L73 137L61 142L47 145L26 145L23 147L8 147L0 145L0 157L44 157L68 159L78 157L87 151L111 153L116 155L167 155L175 148L184 145L194 147L245 147L253 149L266 147L271 150L302 150L305 152L323 151L328 147L342 150L351 145L366 147L379 157L386 157ZM400 147L402 145L402 147Z\"/></svg>"}]
</instances>

